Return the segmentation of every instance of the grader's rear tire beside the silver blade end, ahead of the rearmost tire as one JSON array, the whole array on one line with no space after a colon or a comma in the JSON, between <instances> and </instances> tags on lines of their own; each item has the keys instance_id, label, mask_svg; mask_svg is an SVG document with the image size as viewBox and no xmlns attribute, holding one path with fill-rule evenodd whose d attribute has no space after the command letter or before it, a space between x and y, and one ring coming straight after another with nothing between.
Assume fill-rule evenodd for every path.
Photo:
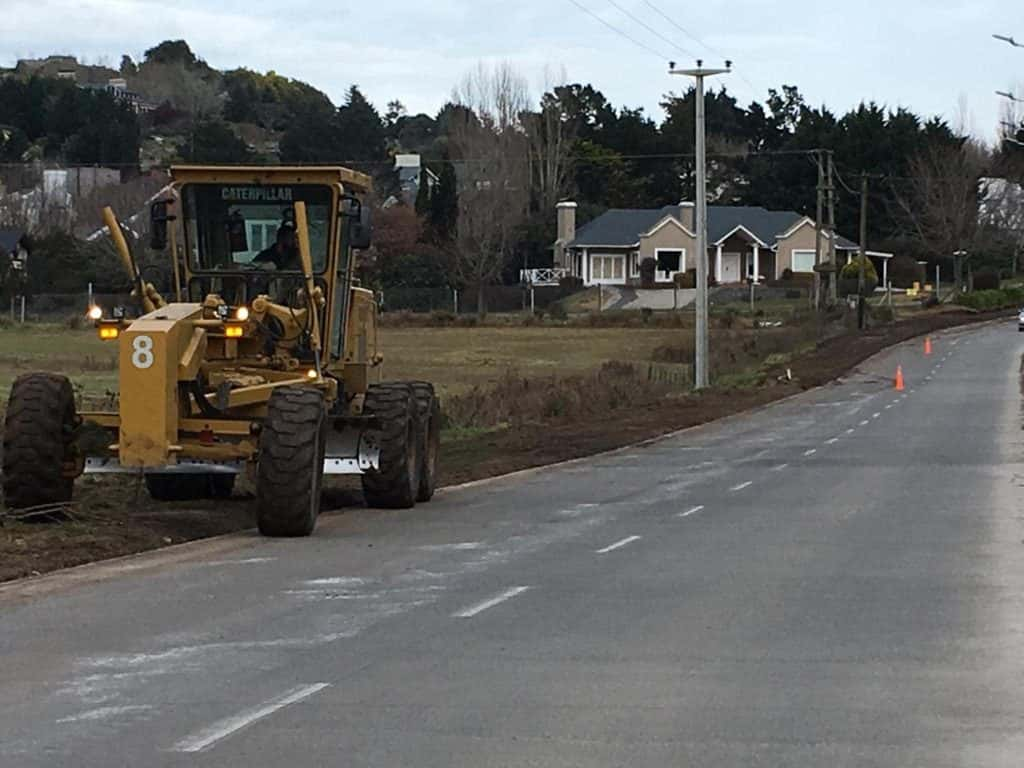
<instances>
[{"instance_id":1,"label":"grader's rear tire beside the silver blade end, ahead of the rearmost tire","mask_svg":"<svg viewBox=\"0 0 1024 768\"><path fill-rule=\"evenodd\" d=\"M409 384L375 384L364 411L377 417L380 468L362 475L368 507L409 509L420 490L419 409Z\"/></svg>"}]
</instances>

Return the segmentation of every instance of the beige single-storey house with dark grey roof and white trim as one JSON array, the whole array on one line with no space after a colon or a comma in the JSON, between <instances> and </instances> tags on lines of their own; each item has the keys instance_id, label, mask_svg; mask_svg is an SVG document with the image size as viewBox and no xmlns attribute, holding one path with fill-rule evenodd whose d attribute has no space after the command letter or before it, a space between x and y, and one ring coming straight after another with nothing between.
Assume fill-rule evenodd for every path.
<instances>
[{"instance_id":1,"label":"beige single-storey house with dark grey roof and white trim","mask_svg":"<svg viewBox=\"0 0 1024 768\"><path fill-rule=\"evenodd\" d=\"M575 226L577 204L558 204L555 265L583 280L584 285L629 285L640 281L640 262L656 264L656 281L671 283L676 274L695 268L694 205L683 202L664 208L613 208L593 221ZM757 206L708 206L709 274L718 283L774 281L783 272L813 273L814 220L793 211ZM830 232L822 232L827 251ZM847 263L857 245L838 236L837 259ZM869 251L883 285L892 254Z\"/></svg>"}]
</instances>

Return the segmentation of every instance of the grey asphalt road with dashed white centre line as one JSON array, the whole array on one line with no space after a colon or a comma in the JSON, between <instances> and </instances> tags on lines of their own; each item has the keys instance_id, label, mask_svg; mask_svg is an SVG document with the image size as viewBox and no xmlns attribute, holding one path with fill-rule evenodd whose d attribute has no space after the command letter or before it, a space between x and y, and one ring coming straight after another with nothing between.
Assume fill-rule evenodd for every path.
<instances>
[{"instance_id":1,"label":"grey asphalt road with dashed white centre line","mask_svg":"<svg viewBox=\"0 0 1024 768\"><path fill-rule=\"evenodd\" d=\"M1019 766L1022 352L0 590L0 765Z\"/></svg>"}]
</instances>

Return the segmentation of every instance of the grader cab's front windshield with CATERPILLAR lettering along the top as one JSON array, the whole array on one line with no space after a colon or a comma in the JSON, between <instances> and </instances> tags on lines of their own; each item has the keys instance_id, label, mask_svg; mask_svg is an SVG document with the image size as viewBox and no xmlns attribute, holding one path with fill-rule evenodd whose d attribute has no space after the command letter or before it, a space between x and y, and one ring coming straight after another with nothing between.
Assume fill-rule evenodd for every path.
<instances>
[{"instance_id":1,"label":"grader cab's front windshield with CATERPILLAR lettering along the top","mask_svg":"<svg viewBox=\"0 0 1024 768\"><path fill-rule=\"evenodd\" d=\"M331 187L315 184L186 184L185 247L193 271L301 271L295 203L306 204L313 271L327 267Z\"/></svg>"}]
</instances>

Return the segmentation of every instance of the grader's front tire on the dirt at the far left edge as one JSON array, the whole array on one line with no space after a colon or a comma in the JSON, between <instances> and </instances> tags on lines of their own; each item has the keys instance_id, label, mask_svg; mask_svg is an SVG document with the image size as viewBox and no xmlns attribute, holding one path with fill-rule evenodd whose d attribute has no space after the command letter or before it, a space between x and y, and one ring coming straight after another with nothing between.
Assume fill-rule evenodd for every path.
<instances>
[{"instance_id":1,"label":"grader's front tire on the dirt at the far left edge","mask_svg":"<svg viewBox=\"0 0 1024 768\"><path fill-rule=\"evenodd\" d=\"M3 431L3 494L12 509L71 501L75 392L65 376L26 374L10 388Z\"/></svg>"}]
</instances>

